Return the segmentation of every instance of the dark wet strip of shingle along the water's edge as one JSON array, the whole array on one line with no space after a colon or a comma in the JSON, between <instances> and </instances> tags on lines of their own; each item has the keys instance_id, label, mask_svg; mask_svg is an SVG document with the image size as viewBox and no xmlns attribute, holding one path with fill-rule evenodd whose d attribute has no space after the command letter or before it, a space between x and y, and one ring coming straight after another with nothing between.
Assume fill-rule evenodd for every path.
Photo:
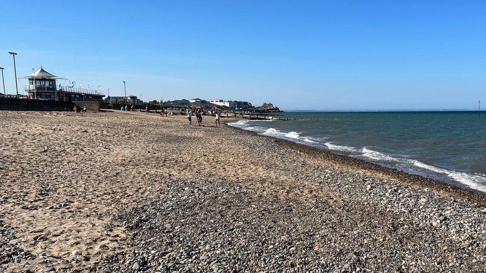
<instances>
[{"instance_id":1,"label":"dark wet strip of shingle along the water's edge","mask_svg":"<svg viewBox=\"0 0 486 273\"><path fill-rule=\"evenodd\" d=\"M244 120L244 119L234 119L234 121L240 121L240 120ZM226 126L228 126L233 130L237 130L241 133L270 138L275 140L277 143L280 143L281 145L292 147L293 149L299 151L305 151L314 156L323 156L328 160L335 160L341 164L348 165L351 168L356 168L356 166L359 166L359 168L362 169L366 169L374 172L380 172L382 174L388 175L398 181L403 181L408 184L418 185L418 186L422 186L437 191L447 191L449 193L456 194L456 197L467 198L468 200L486 206L486 193L480 190L468 188L467 186L453 185L448 182L431 179L421 175L411 174L397 169L381 166L377 163L369 162L364 159L359 159L348 155L339 154L337 152L332 151L331 149L312 147L305 144L293 142L287 139L258 134L257 132L244 130L242 128L231 126L228 124L228 122L231 121L225 121ZM353 164L355 165L353 166ZM460 184L460 182L456 182L456 183Z\"/></svg>"}]
</instances>

